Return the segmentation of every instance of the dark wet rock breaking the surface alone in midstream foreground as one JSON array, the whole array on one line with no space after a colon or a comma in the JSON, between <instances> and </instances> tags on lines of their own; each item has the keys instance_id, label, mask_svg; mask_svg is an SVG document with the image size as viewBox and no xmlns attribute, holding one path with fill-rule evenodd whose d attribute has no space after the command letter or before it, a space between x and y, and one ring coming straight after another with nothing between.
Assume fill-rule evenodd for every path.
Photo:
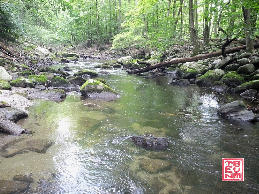
<instances>
[{"instance_id":1,"label":"dark wet rock breaking the surface alone in midstream foreground","mask_svg":"<svg viewBox=\"0 0 259 194\"><path fill-rule=\"evenodd\" d=\"M145 137L134 135L130 138L134 141L134 143L141 145L144 148L165 149L169 145L168 140L164 137Z\"/></svg>"}]
</instances>

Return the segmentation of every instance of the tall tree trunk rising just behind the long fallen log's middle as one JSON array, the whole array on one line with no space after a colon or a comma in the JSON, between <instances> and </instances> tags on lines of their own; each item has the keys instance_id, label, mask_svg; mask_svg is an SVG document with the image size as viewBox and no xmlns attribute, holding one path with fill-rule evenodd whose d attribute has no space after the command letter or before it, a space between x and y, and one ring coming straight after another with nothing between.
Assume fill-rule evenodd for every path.
<instances>
[{"instance_id":1,"label":"tall tree trunk rising just behind the long fallen log's middle","mask_svg":"<svg viewBox=\"0 0 259 194\"><path fill-rule=\"evenodd\" d=\"M194 28L194 9L193 0L189 0L189 25L190 25L190 38L193 42L193 55L198 55L200 53L199 43L197 39L196 30Z\"/></svg>"}]
</instances>

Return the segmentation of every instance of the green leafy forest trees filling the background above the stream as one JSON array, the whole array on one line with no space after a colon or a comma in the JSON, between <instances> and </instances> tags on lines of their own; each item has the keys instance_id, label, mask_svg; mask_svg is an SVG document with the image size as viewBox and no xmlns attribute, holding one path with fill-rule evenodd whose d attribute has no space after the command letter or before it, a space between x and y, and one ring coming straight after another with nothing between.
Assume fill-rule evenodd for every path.
<instances>
[{"instance_id":1,"label":"green leafy forest trees filling the background above the stream","mask_svg":"<svg viewBox=\"0 0 259 194\"><path fill-rule=\"evenodd\" d=\"M251 45L258 13L259 0L0 0L0 39L159 50L192 41L199 53L198 39L246 37Z\"/></svg>"}]
</instances>

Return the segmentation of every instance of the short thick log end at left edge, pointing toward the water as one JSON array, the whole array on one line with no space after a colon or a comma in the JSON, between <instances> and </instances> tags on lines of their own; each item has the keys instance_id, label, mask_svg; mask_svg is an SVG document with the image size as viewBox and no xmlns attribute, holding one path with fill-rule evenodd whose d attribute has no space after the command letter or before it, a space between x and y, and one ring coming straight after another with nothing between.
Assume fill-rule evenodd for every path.
<instances>
[{"instance_id":1,"label":"short thick log end at left edge, pointing toward the water","mask_svg":"<svg viewBox=\"0 0 259 194\"><path fill-rule=\"evenodd\" d=\"M24 129L21 126L9 121L0 115L0 130L9 134L20 135L24 133L29 133L28 129Z\"/></svg>"}]
</instances>

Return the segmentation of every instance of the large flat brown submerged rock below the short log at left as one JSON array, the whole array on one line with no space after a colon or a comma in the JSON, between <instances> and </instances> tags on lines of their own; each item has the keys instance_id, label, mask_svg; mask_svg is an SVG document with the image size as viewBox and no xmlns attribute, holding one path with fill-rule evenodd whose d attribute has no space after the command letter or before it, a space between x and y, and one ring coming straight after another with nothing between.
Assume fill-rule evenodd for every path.
<instances>
[{"instance_id":1,"label":"large flat brown submerged rock below the short log at left","mask_svg":"<svg viewBox=\"0 0 259 194\"><path fill-rule=\"evenodd\" d=\"M16 154L26 152L46 153L52 144L53 142L48 139L20 138L3 145L0 149L0 155L2 157L13 157Z\"/></svg>"}]
</instances>

